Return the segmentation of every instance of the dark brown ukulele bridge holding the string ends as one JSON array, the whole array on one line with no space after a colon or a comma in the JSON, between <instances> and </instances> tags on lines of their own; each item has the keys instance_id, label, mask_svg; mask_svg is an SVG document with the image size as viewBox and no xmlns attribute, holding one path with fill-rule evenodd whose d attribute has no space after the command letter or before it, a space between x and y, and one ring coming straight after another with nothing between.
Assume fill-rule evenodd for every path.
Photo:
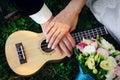
<instances>
[{"instance_id":1,"label":"dark brown ukulele bridge holding the string ends","mask_svg":"<svg viewBox=\"0 0 120 80\"><path fill-rule=\"evenodd\" d=\"M22 43L17 43L17 44L15 44L15 46L16 46L16 50L18 53L18 58L19 58L20 64L26 63L27 60L26 60L24 47L23 47Z\"/></svg>"}]
</instances>

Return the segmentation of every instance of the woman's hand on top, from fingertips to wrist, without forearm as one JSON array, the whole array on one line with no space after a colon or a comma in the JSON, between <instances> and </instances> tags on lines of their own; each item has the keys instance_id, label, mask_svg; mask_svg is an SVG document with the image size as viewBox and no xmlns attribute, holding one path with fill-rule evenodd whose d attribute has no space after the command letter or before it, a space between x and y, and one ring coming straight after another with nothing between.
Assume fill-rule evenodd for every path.
<instances>
[{"instance_id":1,"label":"woman's hand on top, from fingertips to wrist, without forearm","mask_svg":"<svg viewBox=\"0 0 120 80\"><path fill-rule=\"evenodd\" d=\"M48 47L55 48L68 32L75 29L78 21L78 15L61 11L49 24L46 31L46 39L49 42Z\"/></svg>"}]
</instances>

